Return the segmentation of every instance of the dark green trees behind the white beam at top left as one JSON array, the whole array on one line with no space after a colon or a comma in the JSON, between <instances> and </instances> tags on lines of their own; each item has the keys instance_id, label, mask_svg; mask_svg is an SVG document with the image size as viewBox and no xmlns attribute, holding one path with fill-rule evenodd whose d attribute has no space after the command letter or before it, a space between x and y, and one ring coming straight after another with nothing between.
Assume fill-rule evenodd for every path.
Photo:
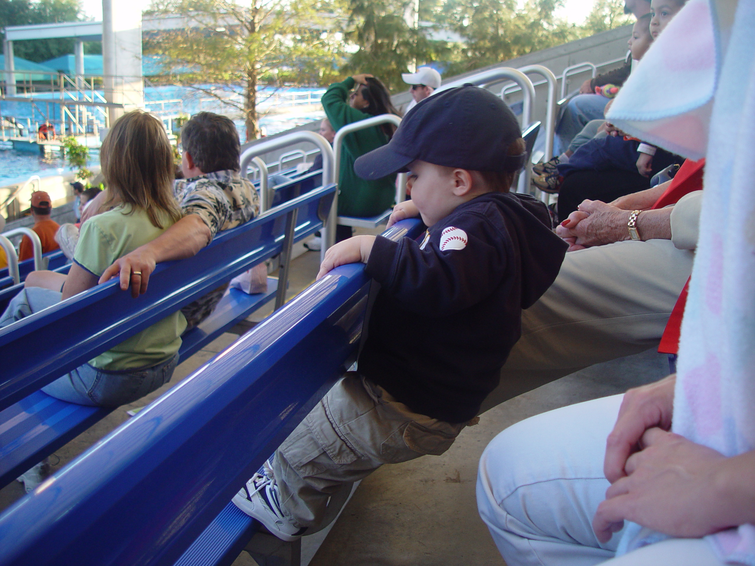
<instances>
[{"instance_id":1,"label":"dark green trees behind the white beam at top left","mask_svg":"<svg viewBox=\"0 0 755 566\"><path fill-rule=\"evenodd\" d=\"M0 0L0 29L5 26L26 26L33 23L75 22L83 20L80 0ZM73 53L73 39L35 39L14 42L14 55L42 63L48 59ZM101 52L100 42L85 44L85 51Z\"/></svg>"}]
</instances>

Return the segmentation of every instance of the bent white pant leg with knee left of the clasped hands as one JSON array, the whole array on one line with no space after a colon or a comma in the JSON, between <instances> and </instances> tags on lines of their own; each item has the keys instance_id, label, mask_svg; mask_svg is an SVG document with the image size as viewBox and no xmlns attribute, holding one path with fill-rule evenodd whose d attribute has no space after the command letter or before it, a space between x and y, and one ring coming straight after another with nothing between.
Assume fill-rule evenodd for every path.
<instances>
[{"instance_id":1,"label":"bent white pant leg with knee left of the clasped hands","mask_svg":"<svg viewBox=\"0 0 755 566\"><path fill-rule=\"evenodd\" d=\"M603 457L622 397L539 414L485 448L477 506L508 566L588 566L613 557L621 534L599 543L592 521L609 487Z\"/></svg>"}]
</instances>

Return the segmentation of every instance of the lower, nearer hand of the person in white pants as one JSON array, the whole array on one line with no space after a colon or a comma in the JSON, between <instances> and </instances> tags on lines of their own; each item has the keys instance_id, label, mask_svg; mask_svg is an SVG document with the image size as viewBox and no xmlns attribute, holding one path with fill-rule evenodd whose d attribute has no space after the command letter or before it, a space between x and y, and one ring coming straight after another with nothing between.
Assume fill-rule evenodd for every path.
<instances>
[{"instance_id":1,"label":"lower, nearer hand of the person in white pants","mask_svg":"<svg viewBox=\"0 0 755 566\"><path fill-rule=\"evenodd\" d=\"M738 524L719 497L723 454L659 428L648 429L640 446L627 460L627 477L608 488L595 513L600 542L608 542L624 520L695 538Z\"/></svg>"}]
</instances>

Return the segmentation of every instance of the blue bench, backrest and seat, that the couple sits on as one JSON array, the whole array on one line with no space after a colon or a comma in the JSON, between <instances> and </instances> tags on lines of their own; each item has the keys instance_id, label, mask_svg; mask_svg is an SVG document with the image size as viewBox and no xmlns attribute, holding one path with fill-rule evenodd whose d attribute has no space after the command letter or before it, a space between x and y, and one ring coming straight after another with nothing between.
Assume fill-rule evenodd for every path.
<instances>
[{"instance_id":1,"label":"blue bench, backrest and seat, that the couple sits on","mask_svg":"<svg viewBox=\"0 0 755 566\"><path fill-rule=\"evenodd\" d=\"M257 219L221 232L195 257L160 264L149 291L137 300L117 281L0 329L0 479L11 481L109 411L60 401L42 386L100 352L196 300L251 266L321 229L335 186L291 199ZM288 229L288 237L287 237ZM287 261L284 259L282 265ZM183 336L180 359L192 355L276 293L285 278L269 279L268 292L231 290L213 314ZM44 349L39 344L45 344ZM29 352L23 355L21 352Z\"/></svg>"}]
</instances>

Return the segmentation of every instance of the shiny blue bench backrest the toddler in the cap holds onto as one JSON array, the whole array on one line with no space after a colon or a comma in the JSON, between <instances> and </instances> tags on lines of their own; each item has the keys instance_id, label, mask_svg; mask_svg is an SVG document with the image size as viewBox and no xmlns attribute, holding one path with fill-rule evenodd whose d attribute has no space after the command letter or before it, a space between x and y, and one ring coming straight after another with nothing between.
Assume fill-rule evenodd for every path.
<instances>
[{"instance_id":1,"label":"shiny blue bench backrest the toddler in the cap holds onto","mask_svg":"<svg viewBox=\"0 0 755 566\"><path fill-rule=\"evenodd\" d=\"M174 564L356 358L369 285L334 269L48 478L0 516L0 566Z\"/></svg>"}]
</instances>

